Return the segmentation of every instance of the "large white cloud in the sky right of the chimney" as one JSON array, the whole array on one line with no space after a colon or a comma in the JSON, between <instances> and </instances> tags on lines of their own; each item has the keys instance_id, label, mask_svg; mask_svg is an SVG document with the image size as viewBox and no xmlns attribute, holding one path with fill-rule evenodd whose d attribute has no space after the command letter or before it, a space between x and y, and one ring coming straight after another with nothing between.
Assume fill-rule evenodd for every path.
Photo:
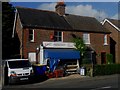
<instances>
[{"instance_id":1,"label":"large white cloud in the sky right of the chimney","mask_svg":"<svg viewBox=\"0 0 120 90\"><path fill-rule=\"evenodd\" d=\"M104 19L108 17L104 11L98 11L94 9L92 5L68 6L66 7L66 12L75 15L95 17L97 19Z\"/></svg>"}]
</instances>

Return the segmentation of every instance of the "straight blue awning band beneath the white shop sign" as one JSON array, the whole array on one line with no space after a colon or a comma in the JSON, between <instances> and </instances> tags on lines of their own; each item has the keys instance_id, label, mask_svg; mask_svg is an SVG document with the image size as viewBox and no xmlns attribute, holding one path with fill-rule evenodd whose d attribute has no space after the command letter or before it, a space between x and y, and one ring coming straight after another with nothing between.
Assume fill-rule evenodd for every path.
<instances>
[{"instance_id":1,"label":"straight blue awning band beneath the white shop sign","mask_svg":"<svg viewBox=\"0 0 120 90\"><path fill-rule=\"evenodd\" d=\"M80 59L80 52L74 49L45 49L44 58Z\"/></svg>"}]
</instances>

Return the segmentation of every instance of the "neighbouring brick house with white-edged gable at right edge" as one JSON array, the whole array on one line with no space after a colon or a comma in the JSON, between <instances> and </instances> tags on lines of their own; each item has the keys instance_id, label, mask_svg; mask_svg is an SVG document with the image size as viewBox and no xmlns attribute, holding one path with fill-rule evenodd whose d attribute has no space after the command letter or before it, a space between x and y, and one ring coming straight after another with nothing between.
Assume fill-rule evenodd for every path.
<instances>
[{"instance_id":1,"label":"neighbouring brick house with white-edged gable at right edge","mask_svg":"<svg viewBox=\"0 0 120 90\"><path fill-rule=\"evenodd\" d=\"M113 54L114 62L120 63L120 20L104 19L102 25L110 34L110 53Z\"/></svg>"}]
</instances>

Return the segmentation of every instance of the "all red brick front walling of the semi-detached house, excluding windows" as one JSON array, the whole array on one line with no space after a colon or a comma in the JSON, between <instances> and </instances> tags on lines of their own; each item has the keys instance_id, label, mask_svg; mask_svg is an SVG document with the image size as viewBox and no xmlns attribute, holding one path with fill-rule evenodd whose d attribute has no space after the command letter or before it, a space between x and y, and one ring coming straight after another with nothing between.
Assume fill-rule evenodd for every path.
<instances>
[{"instance_id":1,"label":"all red brick front walling of the semi-detached house, excluding windows","mask_svg":"<svg viewBox=\"0 0 120 90\"><path fill-rule=\"evenodd\" d=\"M24 29L24 58L28 57L28 52L36 52L36 48L42 44L43 41L53 41L50 35L54 34L53 30L35 29L35 42L29 41L29 29ZM63 31L63 42L72 42L71 34L82 37L83 32ZM104 34L90 33L90 46L93 47L97 53L97 63L101 64L101 52L109 53L109 35L108 45L104 46Z\"/></svg>"}]
</instances>

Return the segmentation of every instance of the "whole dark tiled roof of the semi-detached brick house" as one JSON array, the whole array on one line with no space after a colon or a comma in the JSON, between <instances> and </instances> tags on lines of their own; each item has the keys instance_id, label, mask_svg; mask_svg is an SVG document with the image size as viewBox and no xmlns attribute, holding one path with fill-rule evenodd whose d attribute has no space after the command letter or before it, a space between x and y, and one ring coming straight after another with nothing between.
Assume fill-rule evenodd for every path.
<instances>
[{"instance_id":1,"label":"whole dark tiled roof of the semi-detached brick house","mask_svg":"<svg viewBox=\"0 0 120 90\"><path fill-rule=\"evenodd\" d=\"M110 33L93 17L83 17L71 14L59 16L53 11L23 7L16 8L23 27Z\"/></svg>"}]
</instances>

